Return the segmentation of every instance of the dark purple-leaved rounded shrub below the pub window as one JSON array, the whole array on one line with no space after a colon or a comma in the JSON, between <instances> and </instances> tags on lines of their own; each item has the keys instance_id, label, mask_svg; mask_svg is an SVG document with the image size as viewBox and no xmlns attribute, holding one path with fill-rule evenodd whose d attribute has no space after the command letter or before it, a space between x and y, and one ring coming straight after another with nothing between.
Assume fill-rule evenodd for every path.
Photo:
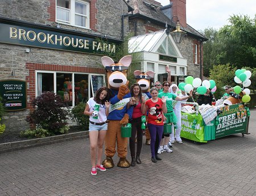
<instances>
[{"instance_id":1,"label":"dark purple-leaved rounded shrub below the pub window","mask_svg":"<svg viewBox=\"0 0 256 196\"><path fill-rule=\"evenodd\" d=\"M36 128L48 130L49 135L66 133L68 110L67 103L55 93L47 92L32 101L35 110L27 118L27 122L34 123Z\"/></svg>"}]
</instances>

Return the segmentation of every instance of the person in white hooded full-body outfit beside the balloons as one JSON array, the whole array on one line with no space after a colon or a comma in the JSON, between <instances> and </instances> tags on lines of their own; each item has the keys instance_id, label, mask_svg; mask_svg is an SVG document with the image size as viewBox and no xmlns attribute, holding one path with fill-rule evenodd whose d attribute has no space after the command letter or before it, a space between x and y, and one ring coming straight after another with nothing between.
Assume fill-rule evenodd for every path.
<instances>
[{"instance_id":1,"label":"person in white hooded full-body outfit beside the balloons","mask_svg":"<svg viewBox=\"0 0 256 196\"><path fill-rule=\"evenodd\" d=\"M177 87L176 84L172 84L171 87L169 88L169 92L173 93L174 95L177 95L179 97L187 96L184 91L180 91L179 88ZM185 100L184 100L185 101ZM172 143L176 142L177 143L182 143L182 140L180 138L180 131L181 131L181 103L184 101L173 101L172 106L174 107L174 113L177 117L177 128L175 130L174 134L174 125L172 125L172 133L171 133L171 138L170 138L170 146L172 146Z\"/></svg>"}]
</instances>

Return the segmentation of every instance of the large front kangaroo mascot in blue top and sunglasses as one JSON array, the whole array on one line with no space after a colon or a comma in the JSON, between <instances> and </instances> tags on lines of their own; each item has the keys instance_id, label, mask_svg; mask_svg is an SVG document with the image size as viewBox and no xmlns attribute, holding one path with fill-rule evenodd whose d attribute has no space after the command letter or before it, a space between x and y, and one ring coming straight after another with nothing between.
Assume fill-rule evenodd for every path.
<instances>
[{"instance_id":1,"label":"large front kangaroo mascot in blue top and sunglasses","mask_svg":"<svg viewBox=\"0 0 256 196\"><path fill-rule=\"evenodd\" d=\"M127 81L127 70L131 63L131 56L125 56L119 62L114 62L110 57L101 58L108 74L108 88L112 92L108 116L108 131L105 137L105 155L106 159L102 162L105 168L113 168L114 161L112 157L115 154L115 144L117 144L117 153L119 162L118 167L130 167L127 155L127 138L121 137L121 126L126 125L133 114L133 107L127 109L127 103L130 101L129 81Z\"/></svg>"}]
</instances>

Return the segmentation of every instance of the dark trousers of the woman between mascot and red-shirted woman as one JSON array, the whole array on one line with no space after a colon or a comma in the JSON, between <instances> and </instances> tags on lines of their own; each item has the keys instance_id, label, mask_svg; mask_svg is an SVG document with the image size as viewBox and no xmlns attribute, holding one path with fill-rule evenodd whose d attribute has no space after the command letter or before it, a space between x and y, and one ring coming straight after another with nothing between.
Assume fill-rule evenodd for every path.
<instances>
[{"instance_id":1,"label":"dark trousers of the woman between mascot and red-shirted woman","mask_svg":"<svg viewBox=\"0 0 256 196\"><path fill-rule=\"evenodd\" d=\"M142 129L141 129L141 117L134 118L130 121L131 123L131 137L129 140L131 156L135 156L135 139L137 133L137 152L136 154L141 154L142 148Z\"/></svg>"}]
</instances>

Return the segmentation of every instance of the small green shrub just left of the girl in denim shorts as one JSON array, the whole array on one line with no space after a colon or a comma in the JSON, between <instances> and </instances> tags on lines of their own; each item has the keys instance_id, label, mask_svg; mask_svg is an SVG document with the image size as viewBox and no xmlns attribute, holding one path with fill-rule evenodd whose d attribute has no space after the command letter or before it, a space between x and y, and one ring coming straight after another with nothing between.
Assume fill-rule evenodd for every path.
<instances>
[{"instance_id":1,"label":"small green shrub just left of the girl in denim shorts","mask_svg":"<svg viewBox=\"0 0 256 196\"><path fill-rule=\"evenodd\" d=\"M89 128L89 116L84 114L86 103L80 102L71 110L71 118L76 121L80 126L84 127L85 130Z\"/></svg>"}]
</instances>

